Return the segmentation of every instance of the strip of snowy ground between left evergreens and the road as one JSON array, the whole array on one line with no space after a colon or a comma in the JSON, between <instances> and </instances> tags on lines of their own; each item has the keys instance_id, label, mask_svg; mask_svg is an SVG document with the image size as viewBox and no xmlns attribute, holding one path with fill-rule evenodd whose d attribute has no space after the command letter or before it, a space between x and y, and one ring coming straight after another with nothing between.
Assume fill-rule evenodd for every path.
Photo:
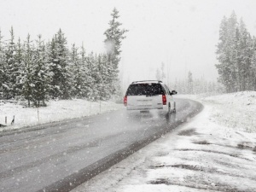
<instances>
[{"instance_id":1,"label":"strip of snowy ground between left evergreens and the road","mask_svg":"<svg viewBox=\"0 0 256 192\"><path fill-rule=\"evenodd\" d=\"M86 117L98 113L124 108L115 102L88 102L81 99L49 101L45 108L24 108L16 102L0 100L0 131L20 129L25 126L41 125L64 119ZM11 125L15 116L15 123ZM7 124L5 124L7 118Z\"/></svg>"}]
</instances>

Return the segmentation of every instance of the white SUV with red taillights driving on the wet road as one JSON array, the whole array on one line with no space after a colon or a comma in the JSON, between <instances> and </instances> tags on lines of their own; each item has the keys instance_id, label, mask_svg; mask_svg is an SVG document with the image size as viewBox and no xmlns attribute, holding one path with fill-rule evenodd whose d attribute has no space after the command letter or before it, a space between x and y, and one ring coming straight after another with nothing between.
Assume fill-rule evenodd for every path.
<instances>
[{"instance_id":1,"label":"white SUV with red taillights driving on the wet road","mask_svg":"<svg viewBox=\"0 0 256 192\"><path fill-rule=\"evenodd\" d=\"M176 102L172 95L177 91L168 89L166 84L157 80L135 81L126 91L124 104L127 110L148 112L156 109L165 113L176 113Z\"/></svg>"}]
</instances>

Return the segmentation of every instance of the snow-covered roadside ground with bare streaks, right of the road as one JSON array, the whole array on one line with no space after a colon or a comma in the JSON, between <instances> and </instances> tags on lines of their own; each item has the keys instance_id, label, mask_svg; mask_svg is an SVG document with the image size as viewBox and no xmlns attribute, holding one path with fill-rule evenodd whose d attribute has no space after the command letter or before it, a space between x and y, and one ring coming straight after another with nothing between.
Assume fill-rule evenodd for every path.
<instances>
[{"instance_id":1,"label":"snow-covered roadside ground with bare streaks, right of the road","mask_svg":"<svg viewBox=\"0 0 256 192\"><path fill-rule=\"evenodd\" d=\"M73 192L256 191L256 92L183 97L205 108Z\"/></svg>"}]
</instances>

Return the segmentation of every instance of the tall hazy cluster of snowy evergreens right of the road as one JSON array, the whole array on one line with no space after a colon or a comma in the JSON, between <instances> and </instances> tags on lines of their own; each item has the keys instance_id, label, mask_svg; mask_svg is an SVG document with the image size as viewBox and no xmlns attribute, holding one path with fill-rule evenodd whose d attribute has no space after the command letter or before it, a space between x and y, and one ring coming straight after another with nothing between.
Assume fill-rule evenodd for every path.
<instances>
[{"instance_id":1,"label":"tall hazy cluster of snowy evergreens right of the road","mask_svg":"<svg viewBox=\"0 0 256 192\"><path fill-rule=\"evenodd\" d=\"M256 90L256 38L235 12L221 21L217 46L218 80L226 91Z\"/></svg>"}]
</instances>

